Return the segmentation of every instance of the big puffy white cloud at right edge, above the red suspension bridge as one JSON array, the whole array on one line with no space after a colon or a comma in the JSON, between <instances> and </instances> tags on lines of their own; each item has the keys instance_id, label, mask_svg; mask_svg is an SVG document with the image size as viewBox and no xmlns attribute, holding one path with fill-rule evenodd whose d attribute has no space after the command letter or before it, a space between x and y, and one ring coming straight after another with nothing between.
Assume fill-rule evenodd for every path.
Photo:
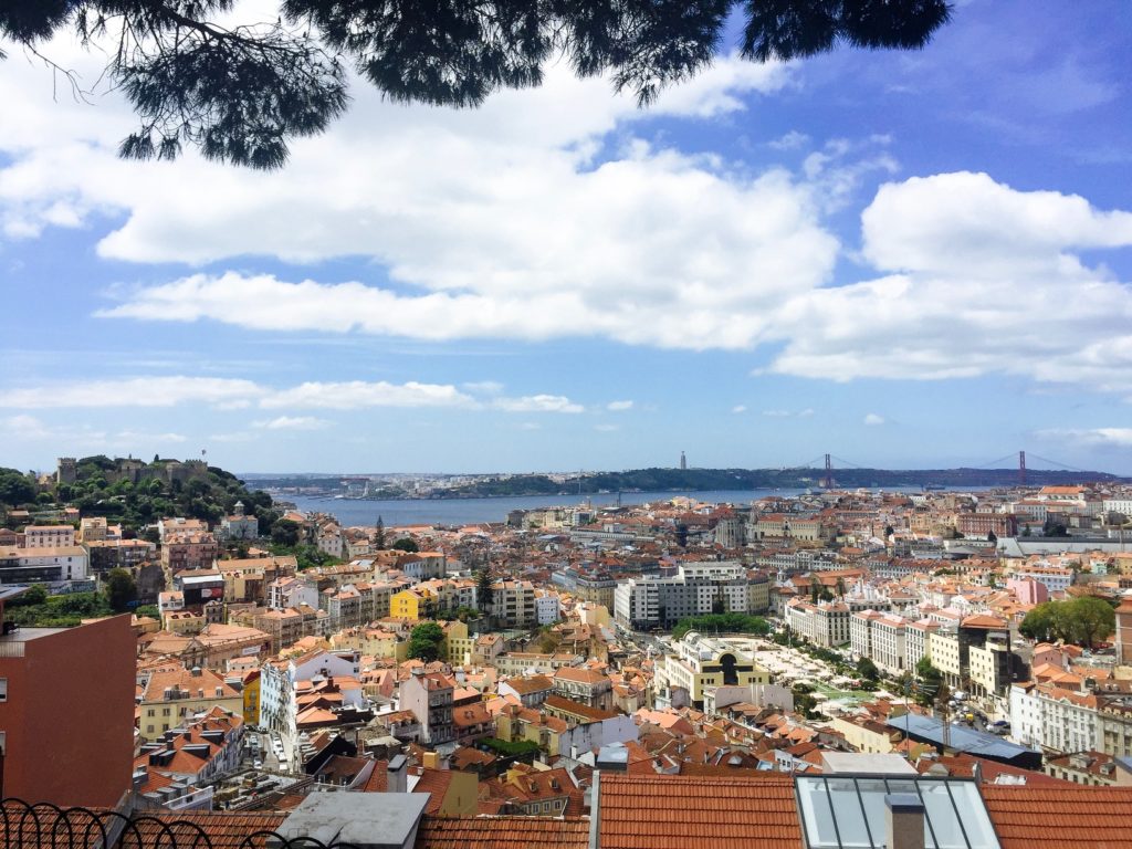
<instances>
[{"instance_id":1,"label":"big puffy white cloud at right edge, above the red suspension bridge","mask_svg":"<svg viewBox=\"0 0 1132 849\"><path fill-rule=\"evenodd\" d=\"M1132 246L1132 214L961 172L882 187L863 223L863 256L890 274L790 299L770 371L1015 375L1132 397L1132 286L1074 252Z\"/></svg>"}]
</instances>

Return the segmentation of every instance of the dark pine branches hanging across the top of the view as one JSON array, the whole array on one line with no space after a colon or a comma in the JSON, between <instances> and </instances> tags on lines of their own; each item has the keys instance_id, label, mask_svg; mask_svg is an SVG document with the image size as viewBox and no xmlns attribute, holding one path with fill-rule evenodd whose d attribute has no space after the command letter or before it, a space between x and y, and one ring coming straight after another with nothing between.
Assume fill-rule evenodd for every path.
<instances>
[{"instance_id":1,"label":"dark pine branches hanging across the top of the view","mask_svg":"<svg viewBox=\"0 0 1132 849\"><path fill-rule=\"evenodd\" d=\"M242 11L234 0L7 0L0 38L40 55L70 32L102 51L139 119L122 156L172 160L188 146L272 169L345 111L350 70L395 102L463 108L539 86L563 57L645 105L709 67L734 23L743 58L767 62L838 44L919 49L950 18L947 0L283 0L266 20L229 23Z\"/></svg>"}]
</instances>

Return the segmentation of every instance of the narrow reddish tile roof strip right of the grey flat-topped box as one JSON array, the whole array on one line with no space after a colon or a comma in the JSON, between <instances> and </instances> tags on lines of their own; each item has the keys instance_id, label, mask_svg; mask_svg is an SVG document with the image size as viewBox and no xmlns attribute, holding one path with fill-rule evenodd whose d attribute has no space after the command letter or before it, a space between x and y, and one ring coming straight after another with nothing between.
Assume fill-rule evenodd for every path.
<instances>
[{"instance_id":1,"label":"narrow reddish tile roof strip right of the grey flat-topped box","mask_svg":"<svg viewBox=\"0 0 1132 849\"><path fill-rule=\"evenodd\" d=\"M415 849L585 849L589 839L589 820L426 815Z\"/></svg>"}]
</instances>

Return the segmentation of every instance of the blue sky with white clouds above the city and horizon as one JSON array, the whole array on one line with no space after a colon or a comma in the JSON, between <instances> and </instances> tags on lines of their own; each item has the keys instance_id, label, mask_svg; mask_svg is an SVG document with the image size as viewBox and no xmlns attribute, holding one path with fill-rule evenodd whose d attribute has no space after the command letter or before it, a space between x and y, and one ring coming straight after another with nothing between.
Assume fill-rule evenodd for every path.
<instances>
[{"instance_id":1,"label":"blue sky with white clouds above the city and horizon","mask_svg":"<svg viewBox=\"0 0 1132 849\"><path fill-rule=\"evenodd\" d=\"M5 45L0 466L1132 474L1130 24L724 43L645 110L563 66L463 111L355 82L273 173L123 162L118 95Z\"/></svg>"}]
</instances>

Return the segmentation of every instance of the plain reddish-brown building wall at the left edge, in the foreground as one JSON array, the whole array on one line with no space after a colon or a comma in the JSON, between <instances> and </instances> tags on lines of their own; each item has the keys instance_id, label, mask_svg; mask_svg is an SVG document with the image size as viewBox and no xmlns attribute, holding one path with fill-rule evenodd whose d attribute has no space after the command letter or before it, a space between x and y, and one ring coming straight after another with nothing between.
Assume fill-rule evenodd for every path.
<instances>
[{"instance_id":1,"label":"plain reddish-brown building wall at the left edge, in the foreground","mask_svg":"<svg viewBox=\"0 0 1132 849\"><path fill-rule=\"evenodd\" d=\"M136 643L129 615L69 628L0 658L8 701L3 795L113 806L134 760Z\"/></svg>"}]
</instances>

